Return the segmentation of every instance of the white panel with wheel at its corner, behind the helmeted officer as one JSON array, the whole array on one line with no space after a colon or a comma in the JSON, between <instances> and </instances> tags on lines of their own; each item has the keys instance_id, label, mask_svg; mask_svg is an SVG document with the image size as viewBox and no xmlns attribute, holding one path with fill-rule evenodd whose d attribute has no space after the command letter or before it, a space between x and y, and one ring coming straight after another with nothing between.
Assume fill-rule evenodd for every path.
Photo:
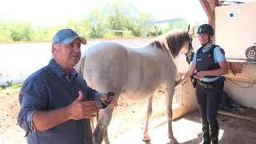
<instances>
[{"instance_id":1,"label":"white panel with wheel at its corner, behind the helmeted officer","mask_svg":"<svg viewBox=\"0 0 256 144\"><path fill-rule=\"evenodd\" d=\"M217 6L215 43L226 58L256 60L256 2Z\"/></svg>"}]
</instances>

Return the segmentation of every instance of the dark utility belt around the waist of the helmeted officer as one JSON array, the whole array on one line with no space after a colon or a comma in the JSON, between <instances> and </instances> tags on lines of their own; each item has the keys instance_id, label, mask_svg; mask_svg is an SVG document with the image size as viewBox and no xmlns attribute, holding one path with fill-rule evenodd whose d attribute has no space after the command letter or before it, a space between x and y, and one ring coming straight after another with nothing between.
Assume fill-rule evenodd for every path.
<instances>
[{"instance_id":1,"label":"dark utility belt around the waist of the helmeted officer","mask_svg":"<svg viewBox=\"0 0 256 144\"><path fill-rule=\"evenodd\" d=\"M222 91L224 87L224 81L226 81L224 76L218 78L218 80L214 82L203 82L197 78L193 78L192 84L194 87L198 84L206 89L218 89Z\"/></svg>"}]
</instances>

